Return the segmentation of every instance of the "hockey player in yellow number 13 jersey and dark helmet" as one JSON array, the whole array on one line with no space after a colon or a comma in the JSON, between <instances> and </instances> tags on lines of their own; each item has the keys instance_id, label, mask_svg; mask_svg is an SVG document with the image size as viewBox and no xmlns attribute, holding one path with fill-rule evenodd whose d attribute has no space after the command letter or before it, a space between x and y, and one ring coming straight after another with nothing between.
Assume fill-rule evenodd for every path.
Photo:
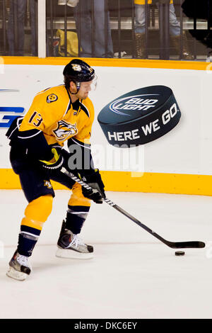
<instances>
[{"instance_id":1,"label":"hockey player in yellow number 13 jersey and dark helmet","mask_svg":"<svg viewBox=\"0 0 212 333\"><path fill-rule=\"evenodd\" d=\"M75 59L66 65L63 74L64 84L37 94L28 113L16 118L6 133L11 140L11 165L28 200L18 247L7 271L7 276L17 280L25 280L30 274L28 258L52 211L54 190L50 179L72 189L56 255L65 258L93 256L93 247L84 244L78 234L88 215L90 200L102 203L105 198L104 184L98 169L93 167L90 154L94 108L88 93L95 80L95 71L86 62ZM69 152L63 149L66 140ZM83 181L95 190L82 188L61 168L83 177Z\"/></svg>"}]
</instances>

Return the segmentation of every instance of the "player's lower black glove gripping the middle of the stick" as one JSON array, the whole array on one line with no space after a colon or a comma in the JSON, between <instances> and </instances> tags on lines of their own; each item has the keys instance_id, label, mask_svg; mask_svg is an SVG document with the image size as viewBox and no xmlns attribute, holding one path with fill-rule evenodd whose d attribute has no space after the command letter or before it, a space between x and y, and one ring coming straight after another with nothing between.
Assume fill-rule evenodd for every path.
<instances>
[{"instance_id":1,"label":"player's lower black glove gripping the middle of the stick","mask_svg":"<svg viewBox=\"0 0 212 333\"><path fill-rule=\"evenodd\" d=\"M81 176L79 175L82 181L85 181L93 190L88 190L82 186L83 196L86 198L93 200L95 203L102 203L102 198L106 198L105 196L105 185L102 182L100 172L98 169L95 169L92 174Z\"/></svg>"}]
</instances>

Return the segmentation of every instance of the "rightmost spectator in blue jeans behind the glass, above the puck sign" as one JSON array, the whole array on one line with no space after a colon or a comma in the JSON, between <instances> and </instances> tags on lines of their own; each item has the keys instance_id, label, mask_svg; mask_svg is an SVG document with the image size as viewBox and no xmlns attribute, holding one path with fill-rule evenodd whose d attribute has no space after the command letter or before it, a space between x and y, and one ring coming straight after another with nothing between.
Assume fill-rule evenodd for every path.
<instances>
[{"instance_id":1,"label":"rightmost spectator in blue jeans behind the glass, above the puck sign","mask_svg":"<svg viewBox=\"0 0 212 333\"><path fill-rule=\"evenodd\" d=\"M180 50L180 25L175 15L175 7L173 0L148 0L148 4L156 3L169 4L170 3L170 38L177 53ZM145 0L134 0L135 4L135 40L136 40L136 57L140 59L145 58ZM182 35L182 59L193 60L187 45L187 36L185 33Z\"/></svg>"}]
</instances>

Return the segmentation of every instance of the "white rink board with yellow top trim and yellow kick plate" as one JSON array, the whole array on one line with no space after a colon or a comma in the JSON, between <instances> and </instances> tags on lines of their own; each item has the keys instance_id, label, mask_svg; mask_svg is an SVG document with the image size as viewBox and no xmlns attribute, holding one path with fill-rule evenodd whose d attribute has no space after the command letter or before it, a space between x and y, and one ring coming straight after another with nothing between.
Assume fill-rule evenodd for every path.
<instances>
[{"instance_id":1,"label":"white rink board with yellow top trim and yellow kick plate","mask_svg":"<svg viewBox=\"0 0 212 333\"><path fill-rule=\"evenodd\" d=\"M0 188L20 188L8 159L5 133L7 124L21 112L11 113L8 107L23 109L25 114L37 92L63 84L61 73L69 60L1 58ZM211 195L211 64L163 60L86 61L95 67L98 75L98 87L90 92L95 106L91 143L95 166L102 171L107 190ZM179 124L158 140L130 152L110 146L98 124L98 113L114 98L154 85L168 86L174 92L182 112ZM63 187L54 184L54 188Z\"/></svg>"}]
</instances>

